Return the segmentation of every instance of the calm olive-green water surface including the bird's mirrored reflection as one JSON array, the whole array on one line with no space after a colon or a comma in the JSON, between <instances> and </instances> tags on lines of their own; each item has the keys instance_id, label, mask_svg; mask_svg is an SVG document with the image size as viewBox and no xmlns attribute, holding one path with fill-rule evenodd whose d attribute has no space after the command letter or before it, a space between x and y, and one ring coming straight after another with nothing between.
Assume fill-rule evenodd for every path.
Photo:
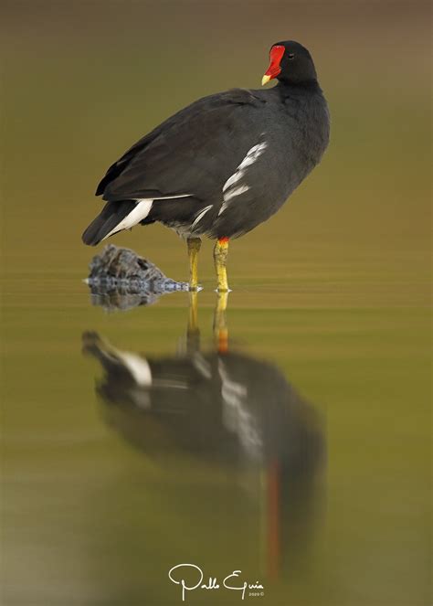
<instances>
[{"instance_id":1,"label":"calm olive-green water surface including the bird's mirrored reflection","mask_svg":"<svg viewBox=\"0 0 433 606\"><path fill-rule=\"evenodd\" d=\"M5 604L177 604L180 563L242 570L265 604L427 603L427 312L365 280L240 283L226 347L210 287L198 332L185 292L108 314L79 280L23 278L5 284ZM375 305L331 304L367 286Z\"/></svg>"}]
</instances>

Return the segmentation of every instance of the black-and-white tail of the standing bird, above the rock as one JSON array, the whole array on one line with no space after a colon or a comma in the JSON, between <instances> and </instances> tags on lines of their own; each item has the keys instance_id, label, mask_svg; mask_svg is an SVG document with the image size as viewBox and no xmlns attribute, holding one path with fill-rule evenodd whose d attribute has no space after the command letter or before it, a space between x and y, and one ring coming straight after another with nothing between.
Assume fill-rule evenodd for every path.
<instances>
[{"instance_id":1,"label":"black-and-white tail of the standing bird, above the rock","mask_svg":"<svg viewBox=\"0 0 433 606\"><path fill-rule=\"evenodd\" d=\"M148 203L147 200L146 202ZM94 218L84 231L82 235L84 244L96 246L100 240L112 236L117 231L132 228L149 212L149 204L145 205L146 208L138 208L142 204L143 202L137 203L135 200L107 202L100 215ZM137 212L138 210L141 212Z\"/></svg>"}]
</instances>

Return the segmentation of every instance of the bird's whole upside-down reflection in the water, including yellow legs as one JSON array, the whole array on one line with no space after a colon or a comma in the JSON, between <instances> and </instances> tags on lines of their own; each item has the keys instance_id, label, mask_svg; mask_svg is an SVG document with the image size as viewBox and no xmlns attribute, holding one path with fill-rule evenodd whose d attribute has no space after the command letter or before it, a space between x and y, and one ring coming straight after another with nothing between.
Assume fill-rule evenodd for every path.
<instances>
[{"instance_id":1,"label":"bird's whole upside-down reflection in the water, including yellow legs","mask_svg":"<svg viewBox=\"0 0 433 606\"><path fill-rule=\"evenodd\" d=\"M197 292L189 296L182 353L122 351L91 332L83 335L83 351L103 367L96 391L104 418L127 441L155 459L172 454L228 465L238 470L240 484L248 475L248 498L266 502L268 572L276 577L282 545L301 536L305 542L312 530L324 462L322 422L278 367L229 351L227 292L216 299L215 346L202 351Z\"/></svg>"}]
</instances>

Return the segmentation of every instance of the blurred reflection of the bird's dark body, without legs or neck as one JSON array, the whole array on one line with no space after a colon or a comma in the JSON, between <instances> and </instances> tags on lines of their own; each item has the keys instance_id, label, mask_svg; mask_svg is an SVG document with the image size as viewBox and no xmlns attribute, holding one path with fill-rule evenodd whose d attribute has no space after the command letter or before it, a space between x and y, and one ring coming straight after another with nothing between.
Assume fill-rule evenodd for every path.
<instances>
[{"instance_id":1,"label":"blurred reflection of the bird's dark body, without legs or neck","mask_svg":"<svg viewBox=\"0 0 433 606\"><path fill-rule=\"evenodd\" d=\"M107 418L125 437L149 449L161 431L172 449L232 463L280 462L296 474L317 471L324 455L320 419L280 369L233 352L176 356L124 352L96 333L83 334L83 353L105 373L95 389ZM119 422L116 422L118 420ZM164 452L170 443L164 441Z\"/></svg>"}]
</instances>

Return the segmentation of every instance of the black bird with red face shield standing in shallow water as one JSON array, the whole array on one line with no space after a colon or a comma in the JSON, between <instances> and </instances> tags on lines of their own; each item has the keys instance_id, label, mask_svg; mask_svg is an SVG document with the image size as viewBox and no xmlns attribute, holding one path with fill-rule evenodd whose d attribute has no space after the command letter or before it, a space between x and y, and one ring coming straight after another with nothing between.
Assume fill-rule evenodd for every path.
<instances>
[{"instance_id":1,"label":"black bird with red face shield standing in shallow water","mask_svg":"<svg viewBox=\"0 0 433 606\"><path fill-rule=\"evenodd\" d=\"M145 135L115 162L96 195L107 204L85 244L159 221L186 239L190 287L197 288L201 238L216 239L219 291L227 291L228 239L273 215L317 165L329 142L329 112L309 51L270 48L262 85L195 101Z\"/></svg>"}]
</instances>

